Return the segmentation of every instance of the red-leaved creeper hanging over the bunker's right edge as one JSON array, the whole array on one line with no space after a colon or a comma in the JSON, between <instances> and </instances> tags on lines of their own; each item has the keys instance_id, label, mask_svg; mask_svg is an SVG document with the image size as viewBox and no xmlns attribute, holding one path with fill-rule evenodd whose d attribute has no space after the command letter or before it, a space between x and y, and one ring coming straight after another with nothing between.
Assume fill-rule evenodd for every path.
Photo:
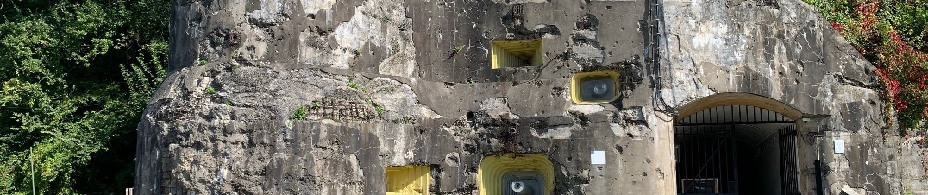
<instances>
[{"instance_id":1,"label":"red-leaved creeper hanging over the bunker's right edge","mask_svg":"<svg viewBox=\"0 0 928 195\"><path fill-rule=\"evenodd\" d=\"M896 31L890 18L885 18L881 8L893 8L896 1L870 0L850 9L851 13L839 20L831 21L831 27L851 42L861 55L877 67L877 75L883 83L887 104L896 110L898 119L905 126L919 124L928 117L928 57L925 50L916 50L906 41L928 40L928 36L908 37ZM846 13L828 10L831 14ZM844 20L846 19L846 20ZM885 21L884 21L885 20ZM925 33L928 34L928 33Z\"/></svg>"}]
</instances>

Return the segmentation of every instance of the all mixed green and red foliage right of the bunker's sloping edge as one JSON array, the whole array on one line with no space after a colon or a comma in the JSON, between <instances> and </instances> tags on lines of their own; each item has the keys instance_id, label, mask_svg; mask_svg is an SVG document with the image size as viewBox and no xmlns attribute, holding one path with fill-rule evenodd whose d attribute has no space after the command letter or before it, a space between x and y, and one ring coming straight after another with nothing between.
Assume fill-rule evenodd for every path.
<instances>
[{"instance_id":1,"label":"all mixed green and red foliage right of the bunker's sloping edge","mask_svg":"<svg viewBox=\"0 0 928 195\"><path fill-rule=\"evenodd\" d=\"M805 0L877 67L903 128L928 117L928 0Z\"/></svg>"}]
</instances>

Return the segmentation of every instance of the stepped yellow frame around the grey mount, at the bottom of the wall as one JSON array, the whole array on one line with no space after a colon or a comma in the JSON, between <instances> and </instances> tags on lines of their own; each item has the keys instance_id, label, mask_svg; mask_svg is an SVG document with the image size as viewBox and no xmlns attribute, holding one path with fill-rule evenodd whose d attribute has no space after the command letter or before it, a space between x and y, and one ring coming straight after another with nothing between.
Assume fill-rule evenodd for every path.
<instances>
[{"instance_id":1,"label":"stepped yellow frame around the grey mount, at the bottom of the wall","mask_svg":"<svg viewBox=\"0 0 928 195\"><path fill-rule=\"evenodd\" d=\"M504 185L503 174L510 171L536 171L545 177L545 195L554 190L554 164L545 154L509 153L484 157L477 168L480 195L500 195Z\"/></svg>"}]
</instances>

